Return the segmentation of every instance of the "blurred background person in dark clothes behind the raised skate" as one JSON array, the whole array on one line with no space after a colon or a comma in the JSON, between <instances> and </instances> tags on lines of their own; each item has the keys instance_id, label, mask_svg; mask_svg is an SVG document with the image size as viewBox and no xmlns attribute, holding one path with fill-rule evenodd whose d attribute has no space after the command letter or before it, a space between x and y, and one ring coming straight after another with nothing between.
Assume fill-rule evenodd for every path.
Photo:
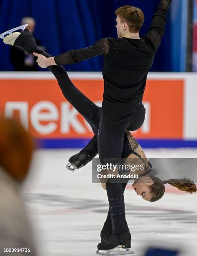
<instances>
[{"instance_id":1,"label":"blurred background person in dark clothes behind the raised skate","mask_svg":"<svg viewBox=\"0 0 197 256\"><path fill-rule=\"evenodd\" d=\"M21 20L21 25L24 24L28 24L28 27L26 28L30 33L33 34L36 21L31 17L24 17ZM36 44L41 47L41 43L38 39L36 39ZM37 58L35 56L27 54L25 51L18 47L14 46L10 49L10 61L13 64L14 71L38 71L36 59Z\"/></svg>"}]
</instances>

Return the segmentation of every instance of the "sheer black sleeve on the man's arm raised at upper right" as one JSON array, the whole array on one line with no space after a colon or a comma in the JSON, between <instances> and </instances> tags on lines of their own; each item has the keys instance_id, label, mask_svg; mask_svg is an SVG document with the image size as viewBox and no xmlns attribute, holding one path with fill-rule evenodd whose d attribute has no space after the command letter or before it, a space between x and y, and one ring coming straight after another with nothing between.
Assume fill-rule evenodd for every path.
<instances>
[{"instance_id":1,"label":"sheer black sleeve on the man's arm raised at upper right","mask_svg":"<svg viewBox=\"0 0 197 256\"><path fill-rule=\"evenodd\" d=\"M151 42L154 48L154 51L157 51L161 43L161 38L164 35L164 30L166 26L166 17L167 17L170 4L171 4L171 0L160 0L159 6L151 22L150 30L145 36L146 38L148 38L148 41Z\"/></svg>"}]
</instances>

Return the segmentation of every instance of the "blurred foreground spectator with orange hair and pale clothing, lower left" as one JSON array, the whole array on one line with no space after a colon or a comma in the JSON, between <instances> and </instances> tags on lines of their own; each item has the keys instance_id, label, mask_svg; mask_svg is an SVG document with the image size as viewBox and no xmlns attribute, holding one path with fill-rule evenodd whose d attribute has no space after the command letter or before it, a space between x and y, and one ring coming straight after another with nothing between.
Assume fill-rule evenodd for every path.
<instances>
[{"instance_id":1,"label":"blurred foreground spectator with orange hair and pale clothing, lower left","mask_svg":"<svg viewBox=\"0 0 197 256\"><path fill-rule=\"evenodd\" d=\"M0 119L0 255L36 256L31 226L19 196L32 154L29 133L15 120Z\"/></svg>"}]
</instances>

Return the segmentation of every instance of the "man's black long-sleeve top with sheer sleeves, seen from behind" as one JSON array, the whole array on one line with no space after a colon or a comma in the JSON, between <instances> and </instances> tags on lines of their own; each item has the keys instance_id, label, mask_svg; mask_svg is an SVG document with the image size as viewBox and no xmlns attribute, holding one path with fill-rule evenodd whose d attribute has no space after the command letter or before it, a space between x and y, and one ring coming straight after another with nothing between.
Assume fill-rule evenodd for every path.
<instances>
[{"instance_id":1,"label":"man's black long-sleeve top with sheer sleeves, seen from behind","mask_svg":"<svg viewBox=\"0 0 197 256\"><path fill-rule=\"evenodd\" d=\"M104 55L102 109L110 120L128 117L142 104L146 78L161 43L171 0L160 0L148 33L140 39L102 38L92 46L55 57L56 64L73 64Z\"/></svg>"}]
</instances>

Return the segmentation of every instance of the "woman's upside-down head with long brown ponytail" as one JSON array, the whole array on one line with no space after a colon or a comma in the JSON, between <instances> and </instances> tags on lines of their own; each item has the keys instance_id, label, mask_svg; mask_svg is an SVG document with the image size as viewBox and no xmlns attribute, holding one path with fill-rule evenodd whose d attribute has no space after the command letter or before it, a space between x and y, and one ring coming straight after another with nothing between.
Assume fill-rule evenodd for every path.
<instances>
[{"instance_id":1,"label":"woman's upside-down head with long brown ponytail","mask_svg":"<svg viewBox=\"0 0 197 256\"><path fill-rule=\"evenodd\" d=\"M196 184L191 179L186 178L162 181L155 176L145 176L136 179L132 187L136 190L137 195L140 195L144 200L155 202L163 197L166 183L190 194L197 192Z\"/></svg>"}]
</instances>

